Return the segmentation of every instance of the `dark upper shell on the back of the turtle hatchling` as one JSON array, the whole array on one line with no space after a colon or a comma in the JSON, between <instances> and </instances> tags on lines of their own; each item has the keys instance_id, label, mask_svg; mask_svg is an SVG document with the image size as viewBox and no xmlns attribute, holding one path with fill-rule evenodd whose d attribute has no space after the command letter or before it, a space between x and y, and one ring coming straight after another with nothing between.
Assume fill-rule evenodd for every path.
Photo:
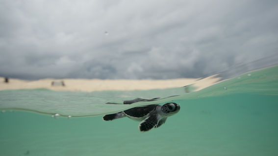
<instances>
[{"instance_id":1,"label":"dark upper shell on the back of the turtle hatchling","mask_svg":"<svg viewBox=\"0 0 278 156\"><path fill-rule=\"evenodd\" d=\"M157 105L149 105L144 107L134 107L132 109L124 111L126 115L133 117L143 117L146 116L151 111L155 111Z\"/></svg>"}]
</instances>

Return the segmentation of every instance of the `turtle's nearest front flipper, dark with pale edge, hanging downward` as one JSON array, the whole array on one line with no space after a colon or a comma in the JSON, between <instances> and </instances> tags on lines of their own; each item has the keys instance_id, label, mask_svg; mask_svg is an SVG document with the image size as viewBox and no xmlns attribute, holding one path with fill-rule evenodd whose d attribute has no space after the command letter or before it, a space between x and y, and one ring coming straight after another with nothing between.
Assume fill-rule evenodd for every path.
<instances>
[{"instance_id":1,"label":"turtle's nearest front flipper, dark with pale edge, hanging downward","mask_svg":"<svg viewBox=\"0 0 278 156\"><path fill-rule=\"evenodd\" d=\"M151 130L153 127L155 127L158 124L160 115L158 114L152 114L150 117L145 119L143 122L139 124L139 130L141 132L146 132Z\"/></svg>"}]
</instances>

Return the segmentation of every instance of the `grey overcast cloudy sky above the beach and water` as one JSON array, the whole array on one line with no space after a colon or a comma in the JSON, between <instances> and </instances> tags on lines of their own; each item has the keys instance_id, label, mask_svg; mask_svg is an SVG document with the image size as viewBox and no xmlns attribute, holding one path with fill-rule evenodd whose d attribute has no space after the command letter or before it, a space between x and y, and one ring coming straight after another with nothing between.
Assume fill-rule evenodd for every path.
<instances>
[{"instance_id":1,"label":"grey overcast cloudy sky above the beach and water","mask_svg":"<svg viewBox=\"0 0 278 156\"><path fill-rule=\"evenodd\" d=\"M278 0L0 0L0 76L196 78L276 55Z\"/></svg>"}]
</instances>

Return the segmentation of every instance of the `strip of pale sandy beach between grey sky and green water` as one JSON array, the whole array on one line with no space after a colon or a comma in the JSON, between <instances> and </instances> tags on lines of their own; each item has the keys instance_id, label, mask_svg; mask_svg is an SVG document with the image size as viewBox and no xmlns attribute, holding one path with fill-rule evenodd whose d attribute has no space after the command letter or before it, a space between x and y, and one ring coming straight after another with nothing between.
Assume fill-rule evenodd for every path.
<instances>
[{"instance_id":1,"label":"strip of pale sandy beach between grey sky and green water","mask_svg":"<svg viewBox=\"0 0 278 156\"><path fill-rule=\"evenodd\" d=\"M177 88L194 84L197 90L217 83L219 77L210 76L203 79L182 78L168 80L101 80L101 79L41 79L26 81L9 79L8 83L0 77L0 90L6 89L38 89L72 90L72 91L102 91L102 90L149 90ZM54 82L54 86L52 86ZM61 82L65 86L61 85Z\"/></svg>"}]
</instances>

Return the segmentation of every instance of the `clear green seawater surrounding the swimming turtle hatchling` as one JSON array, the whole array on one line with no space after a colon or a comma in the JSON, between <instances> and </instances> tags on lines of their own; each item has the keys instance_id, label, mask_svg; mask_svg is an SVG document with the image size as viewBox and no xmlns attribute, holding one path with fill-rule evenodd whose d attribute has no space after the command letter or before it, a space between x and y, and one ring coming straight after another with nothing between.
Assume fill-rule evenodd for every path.
<instances>
[{"instance_id":1,"label":"clear green seawater surrounding the swimming turtle hatchling","mask_svg":"<svg viewBox=\"0 0 278 156\"><path fill-rule=\"evenodd\" d=\"M0 156L278 156L277 66L184 90L0 91ZM161 99L105 104L135 97ZM103 114L169 101L180 111L146 133L128 118L102 120ZM51 117L55 113L60 117Z\"/></svg>"}]
</instances>

